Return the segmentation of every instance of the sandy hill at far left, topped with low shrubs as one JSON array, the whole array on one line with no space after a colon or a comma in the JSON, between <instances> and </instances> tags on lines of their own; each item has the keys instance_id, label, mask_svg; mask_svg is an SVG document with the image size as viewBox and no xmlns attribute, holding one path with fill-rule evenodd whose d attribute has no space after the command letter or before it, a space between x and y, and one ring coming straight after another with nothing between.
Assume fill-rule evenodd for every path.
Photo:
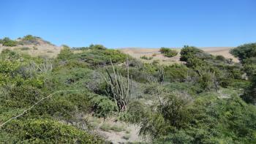
<instances>
[{"instance_id":1,"label":"sandy hill at far left, topped with low shrubs","mask_svg":"<svg viewBox=\"0 0 256 144\"><path fill-rule=\"evenodd\" d=\"M4 49L15 50L20 53L28 53L31 56L43 56L48 58L56 57L62 47L51 44L40 37L33 39L18 38L15 40L18 44L14 47L7 47L0 45L0 53Z\"/></svg>"}]
</instances>

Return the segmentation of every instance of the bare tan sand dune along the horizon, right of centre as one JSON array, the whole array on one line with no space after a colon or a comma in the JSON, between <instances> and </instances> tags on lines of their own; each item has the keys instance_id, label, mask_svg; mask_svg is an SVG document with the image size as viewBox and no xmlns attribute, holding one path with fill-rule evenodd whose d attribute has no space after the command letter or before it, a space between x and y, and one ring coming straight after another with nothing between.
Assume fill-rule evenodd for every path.
<instances>
[{"instance_id":1,"label":"bare tan sand dune along the horizon, right of centre","mask_svg":"<svg viewBox=\"0 0 256 144\"><path fill-rule=\"evenodd\" d=\"M181 48L173 48L177 50L178 52L181 51ZM238 62L238 58L235 58L232 56L229 51L232 49L231 47L212 47L212 48L200 48L201 50L204 50L206 53L210 53L214 56L221 55L225 58L232 58L234 62ZM159 60L161 64L172 64L172 63L181 63L179 61L180 54L178 53L177 56L174 56L173 58L167 58L162 55L162 53L159 52L159 48L120 48L123 53L127 53L130 56L134 58L140 58L141 56L152 56L155 54L156 56L153 56L153 59L151 60L144 60L145 62L151 62L154 60Z\"/></svg>"}]
</instances>

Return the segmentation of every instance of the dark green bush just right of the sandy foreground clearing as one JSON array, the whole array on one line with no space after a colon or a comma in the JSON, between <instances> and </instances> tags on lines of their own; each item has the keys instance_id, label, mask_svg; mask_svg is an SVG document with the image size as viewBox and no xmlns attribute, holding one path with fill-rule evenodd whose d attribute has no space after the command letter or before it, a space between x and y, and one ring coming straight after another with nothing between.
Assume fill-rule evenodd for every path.
<instances>
[{"instance_id":1,"label":"dark green bush just right of the sandy foreground clearing","mask_svg":"<svg viewBox=\"0 0 256 144\"><path fill-rule=\"evenodd\" d=\"M148 135L152 140L173 133L176 129L186 128L190 118L188 112L190 99L187 96L167 94L162 102L159 101L157 112L143 118L140 123L140 135Z\"/></svg>"}]
</instances>

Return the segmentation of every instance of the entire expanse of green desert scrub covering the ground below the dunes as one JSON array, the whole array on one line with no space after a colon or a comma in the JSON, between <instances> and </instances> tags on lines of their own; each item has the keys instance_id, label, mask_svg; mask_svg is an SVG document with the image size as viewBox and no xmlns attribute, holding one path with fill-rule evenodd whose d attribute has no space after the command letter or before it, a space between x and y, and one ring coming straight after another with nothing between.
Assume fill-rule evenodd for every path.
<instances>
[{"instance_id":1,"label":"entire expanse of green desert scrub covering the ground below the dunes","mask_svg":"<svg viewBox=\"0 0 256 144\"><path fill-rule=\"evenodd\" d=\"M235 63L184 46L184 64L170 65L103 45L64 45L56 58L3 50L0 143L255 143L255 48L231 50Z\"/></svg>"}]
</instances>

